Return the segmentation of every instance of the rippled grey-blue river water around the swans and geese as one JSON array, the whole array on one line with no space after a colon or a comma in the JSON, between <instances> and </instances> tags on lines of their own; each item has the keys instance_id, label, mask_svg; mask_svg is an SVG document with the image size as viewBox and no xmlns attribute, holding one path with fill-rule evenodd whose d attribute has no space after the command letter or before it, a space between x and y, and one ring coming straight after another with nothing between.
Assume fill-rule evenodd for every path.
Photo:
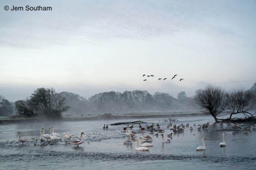
<instances>
[{"instance_id":1,"label":"rippled grey-blue river water around the swans and geese","mask_svg":"<svg viewBox=\"0 0 256 170\"><path fill-rule=\"evenodd\" d=\"M124 144L128 139L123 127L126 125L111 125L116 122L143 121L142 127L156 123L160 129L165 130L164 139L172 132L172 127L167 128L168 123L162 115L150 116L144 114L143 118L119 117L118 119L90 119L90 120L61 120L40 122L19 122L0 124L0 169L104 169L104 170L131 170L131 169L164 169L164 170L255 170L256 168L256 130L251 127L249 131L232 130L232 125L217 124L212 126L214 119L211 116L194 116L183 114L177 116L177 122L172 125L187 123L182 133L173 133L170 143L162 143L161 136L154 136L148 130L144 134L153 138L153 147L149 151L135 150L135 142ZM120 116L120 115L119 115ZM167 115L168 117L168 115ZM210 122L207 130L197 130L198 125ZM109 129L103 130L103 125ZM193 125L196 126L193 126ZM250 123L251 124L251 123ZM130 124L129 126L131 126ZM138 124L133 124L137 134L132 139L139 139L141 132ZM238 124L241 128L248 124ZM85 142L79 147L62 141L45 142L38 141L42 127L46 133L50 133L49 127L54 126L59 134L70 133L77 139L84 132ZM157 129L157 128L156 128ZM29 142L18 142L18 132L21 138ZM222 133L225 133L226 147L219 147L223 142ZM159 133L158 134L162 134ZM206 137L206 150L196 151L202 144L202 138Z\"/></svg>"}]
</instances>

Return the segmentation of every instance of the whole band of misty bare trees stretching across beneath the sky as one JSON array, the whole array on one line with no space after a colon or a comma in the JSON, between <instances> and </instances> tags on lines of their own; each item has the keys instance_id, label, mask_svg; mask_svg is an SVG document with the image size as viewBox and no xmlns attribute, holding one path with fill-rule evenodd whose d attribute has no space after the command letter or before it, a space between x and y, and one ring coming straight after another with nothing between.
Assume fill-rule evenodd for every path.
<instances>
[{"instance_id":1,"label":"whole band of misty bare trees stretching across beneath the sky","mask_svg":"<svg viewBox=\"0 0 256 170\"><path fill-rule=\"evenodd\" d=\"M221 112L229 111L230 117L243 113L245 117L254 117L256 83L249 90L236 88L225 91L214 85L198 89L195 96L187 97L185 91L177 98L168 93L148 91L103 92L94 94L88 100L70 92L57 93L53 88L37 88L31 96L16 102L9 102L0 96L0 116L9 116L14 112L24 116L46 116L58 118L62 113L108 113L138 111L195 111L211 114L215 121Z\"/></svg>"}]
</instances>

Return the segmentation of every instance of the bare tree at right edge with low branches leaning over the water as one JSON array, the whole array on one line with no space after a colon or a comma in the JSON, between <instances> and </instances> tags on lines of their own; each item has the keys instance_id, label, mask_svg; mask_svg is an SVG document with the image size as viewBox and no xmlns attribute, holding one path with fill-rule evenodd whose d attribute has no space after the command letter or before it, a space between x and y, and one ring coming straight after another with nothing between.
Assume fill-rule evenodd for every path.
<instances>
[{"instance_id":1,"label":"bare tree at right edge with low branches leaning over the water","mask_svg":"<svg viewBox=\"0 0 256 170\"><path fill-rule=\"evenodd\" d=\"M232 89L227 94L228 108L232 110L229 120L233 114L243 113L245 117L253 117L249 113L252 110L255 102L251 100L252 94L250 91L245 91L243 88Z\"/></svg>"}]
</instances>

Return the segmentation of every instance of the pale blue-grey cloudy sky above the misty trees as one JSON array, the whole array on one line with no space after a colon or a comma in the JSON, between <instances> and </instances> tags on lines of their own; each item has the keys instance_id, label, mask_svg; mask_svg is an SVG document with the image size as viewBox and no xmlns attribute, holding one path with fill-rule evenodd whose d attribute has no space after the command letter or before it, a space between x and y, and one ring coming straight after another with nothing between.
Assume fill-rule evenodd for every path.
<instances>
[{"instance_id":1,"label":"pale blue-grey cloudy sky above the misty trees","mask_svg":"<svg viewBox=\"0 0 256 170\"><path fill-rule=\"evenodd\" d=\"M85 99L133 90L192 97L209 84L249 89L255 8L255 0L1 0L0 95L15 102L37 88Z\"/></svg>"}]
</instances>

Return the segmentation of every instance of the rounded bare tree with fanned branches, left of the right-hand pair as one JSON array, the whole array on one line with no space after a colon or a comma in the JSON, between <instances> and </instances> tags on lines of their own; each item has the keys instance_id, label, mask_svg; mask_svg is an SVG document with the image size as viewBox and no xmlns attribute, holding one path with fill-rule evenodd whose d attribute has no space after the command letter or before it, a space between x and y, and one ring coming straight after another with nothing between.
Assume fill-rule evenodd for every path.
<instances>
[{"instance_id":1,"label":"rounded bare tree with fanned branches, left of the right-hand pair","mask_svg":"<svg viewBox=\"0 0 256 170\"><path fill-rule=\"evenodd\" d=\"M227 107L226 93L223 88L207 85L205 89L199 89L194 97L200 111L210 113L215 122L218 122L217 116Z\"/></svg>"}]
</instances>

